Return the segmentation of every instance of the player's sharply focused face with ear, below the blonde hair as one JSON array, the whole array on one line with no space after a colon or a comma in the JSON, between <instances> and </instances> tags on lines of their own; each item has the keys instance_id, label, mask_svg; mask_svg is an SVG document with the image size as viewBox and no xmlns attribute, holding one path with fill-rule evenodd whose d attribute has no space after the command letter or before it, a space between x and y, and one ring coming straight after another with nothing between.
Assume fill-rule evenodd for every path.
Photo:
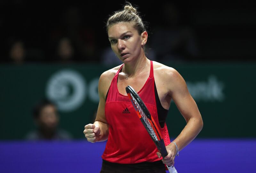
<instances>
[{"instance_id":1,"label":"player's sharply focused face with ear, below the blonde hair","mask_svg":"<svg viewBox=\"0 0 256 173\"><path fill-rule=\"evenodd\" d=\"M108 29L108 40L116 56L123 62L129 62L144 53L142 46L147 41L147 32L139 34L132 23L118 23Z\"/></svg>"}]
</instances>

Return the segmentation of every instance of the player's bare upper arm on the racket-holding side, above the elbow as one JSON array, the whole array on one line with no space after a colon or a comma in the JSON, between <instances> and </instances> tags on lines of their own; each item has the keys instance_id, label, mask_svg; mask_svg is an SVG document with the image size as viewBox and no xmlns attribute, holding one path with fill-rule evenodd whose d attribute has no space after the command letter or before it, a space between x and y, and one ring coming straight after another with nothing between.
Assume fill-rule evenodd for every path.
<instances>
[{"instance_id":1,"label":"player's bare upper arm on the racket-holding side, above the elbow","mask_svg":"<svg viewBox=\"0 0 256 173\"><path fill-rule=\"evenodd\" d=\"M169 81L171 81L171 85L169 85L169 95L172 97L172 100L175 102L186 122L188 122L191 117L202 119L196 102L190 95L187 84L180 73L171 68L168 78Z\"/></svg>"}]
</instances>

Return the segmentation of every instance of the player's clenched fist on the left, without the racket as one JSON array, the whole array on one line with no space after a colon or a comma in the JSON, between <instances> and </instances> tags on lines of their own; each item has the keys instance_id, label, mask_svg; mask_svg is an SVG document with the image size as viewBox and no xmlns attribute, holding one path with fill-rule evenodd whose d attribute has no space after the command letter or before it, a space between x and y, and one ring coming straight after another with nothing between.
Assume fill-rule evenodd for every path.
<instances>
[{"instance_id":1,"label":"player's clenched fist on the left, without the racket","mask_svg":"<svg viewBox=\"0 0 256 173\"><path fill-rule=\"evenodd\" d=\"M95 124L87 124L84 126L84 135L89 142L97 142L100 136L100 127Z\"/></svg>"}]
</instances>

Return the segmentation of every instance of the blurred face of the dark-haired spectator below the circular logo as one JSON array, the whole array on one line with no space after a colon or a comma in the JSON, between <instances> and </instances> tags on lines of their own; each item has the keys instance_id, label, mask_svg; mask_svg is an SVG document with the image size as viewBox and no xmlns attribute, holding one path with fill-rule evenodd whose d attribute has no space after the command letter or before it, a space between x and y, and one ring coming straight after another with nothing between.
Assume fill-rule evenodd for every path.
<instances>
[{"instance_id":1,"label":"blurred face of the dark-haired spectator below the circular logo","mask_svg":"<svg viewBox=\"0 0 256 173\"><path fill-rule=\"evenodd\" d=\"M55 106L46 105L40 112L39 125L45 130L54 130L58 122L59 118Z\"/></svg>"}]
</instances>

